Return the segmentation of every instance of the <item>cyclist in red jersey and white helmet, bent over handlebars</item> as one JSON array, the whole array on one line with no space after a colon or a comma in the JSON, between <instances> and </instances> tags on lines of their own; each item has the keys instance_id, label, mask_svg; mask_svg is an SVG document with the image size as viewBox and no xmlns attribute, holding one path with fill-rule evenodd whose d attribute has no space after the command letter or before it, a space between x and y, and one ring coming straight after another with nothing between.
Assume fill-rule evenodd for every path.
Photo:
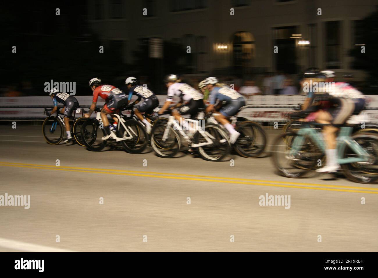
<instances>
[{"instance_id":1,"label":"cyclist in red jersey and white helmet, bent over handlebars","mask_svg":"<svg viewBox=\"0 0 378 278\"><path fill-rule=\"evenodd\" d=\"M120 138L115 135L113 130L110 130L107 115L117 113L122 106L127 104L127 95L112 85L102 84L101 79L99 78L92 78L89 81L89 87L93 91L93 102L89 112L84 114L84 116L86 118L90 117L93 111L95 111L98 97L101 96L101 98L105 99L105 105L101 109L101 119L105 130L105 136L102 137L102 140L107 140L109 138L119 140Z\"/></svg>"}]
</instances>

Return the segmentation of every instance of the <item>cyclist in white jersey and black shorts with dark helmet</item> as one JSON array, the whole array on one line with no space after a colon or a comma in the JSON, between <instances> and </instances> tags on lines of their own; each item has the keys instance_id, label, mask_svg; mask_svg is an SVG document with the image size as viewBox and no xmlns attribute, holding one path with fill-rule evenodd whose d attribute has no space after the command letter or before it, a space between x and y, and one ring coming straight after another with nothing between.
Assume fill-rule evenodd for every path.
<instances>
[{"instance_id":1,"label":"cyclist in white jersey and black shorts with dark helmet","mask_svg":"<svg viewBox=\"0 0 378 278\"><path fill-rule=\"evenodd\" d=\"M180 97L180 101L172 107L172 116L176 118L179 123L182 123L183 129L191 130L189 123L183 121L183 115L190 115L192 120L195 119L197 113L204 110L203 95L196 89L186 83L181 83L178 75L167 75L163 81L168 88L168 95L163 107L159 110L158 114L161 115L167 110L172 103L173 97ZM195 130L192 130L195 133Z\"/></svg>"}]
</instances>

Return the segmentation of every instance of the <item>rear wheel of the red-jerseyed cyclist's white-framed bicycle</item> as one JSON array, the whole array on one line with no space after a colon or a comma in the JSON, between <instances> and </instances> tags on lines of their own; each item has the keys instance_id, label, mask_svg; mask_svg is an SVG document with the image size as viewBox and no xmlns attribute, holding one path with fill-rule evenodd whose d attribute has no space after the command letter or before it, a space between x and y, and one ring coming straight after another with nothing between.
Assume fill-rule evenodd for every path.
<instances>
[{"instance_id":1,"label":"rear wheel of the red-jerseyed cyclist's white-framed bicycle","mask_svg":"<svg viewBox=\"0 0 378 278\"><path fill-rule=\"evenodd\" d=\"M143 152L148 144L146 129L135 120L125 121L124 125L129 132L125 130L121 123L119 123L119 125L118 137L124 138L130 137L131 135L130 139L120 141L124 149L131 154L140 154Z\"/></svg>"}]
</instances>

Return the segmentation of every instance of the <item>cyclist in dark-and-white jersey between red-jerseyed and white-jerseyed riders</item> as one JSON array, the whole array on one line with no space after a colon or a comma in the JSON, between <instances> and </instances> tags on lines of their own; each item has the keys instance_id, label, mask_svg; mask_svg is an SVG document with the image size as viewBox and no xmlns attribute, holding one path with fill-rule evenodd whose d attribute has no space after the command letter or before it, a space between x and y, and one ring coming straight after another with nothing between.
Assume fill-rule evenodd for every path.
<instances>
[{"instance_id":1,"label":"cyclist in dark-and-white jersey between red-jerseyed and white-jerseyed riders","mask_svg":"<svg viewBox=\"0 0 378 278\"><path fill-rule=\"evenodd\" d=\"M139 85L138 79L133 76L130 76L126 79L125 84L127 89L129 89L129 98L128 103L133 95L138 96L138 99L132 103L132 106L139 103L139 101L143 98L143 103L139 104L137 108L134 109L135 115L146 125L147 133L151 133L151 120L149 118L144 118L144 115L151 115L153 113L153 109L159 106L159 100L156 95L149 90L147 87L143 85Z\"/></svg>"}]
</instances>

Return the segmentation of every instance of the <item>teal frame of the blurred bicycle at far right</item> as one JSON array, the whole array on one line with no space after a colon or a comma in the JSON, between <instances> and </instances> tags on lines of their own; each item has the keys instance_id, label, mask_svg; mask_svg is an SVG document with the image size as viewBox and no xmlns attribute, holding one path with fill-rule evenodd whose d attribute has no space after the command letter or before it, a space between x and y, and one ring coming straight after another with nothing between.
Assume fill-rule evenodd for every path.
<instances>
[{"instance_id":1,"label":"teal frame of the blurred bicycle at far right","mask_svg":"<svg viewBox=\"0 0 378 278\"><path fill-rule=\"evenodd\" d=\"M315 124L315 125L324 125L324 124ZM343 126L339 130L337 137L337 153L338 153L338 163L347 164L353 162L368 162L370 155L355 141L351 138L353 132L353 127ZM299 129L296 137L294 137L293 144L291 146L290 154L294 155L297 152L300 152L301 147L304 143L305 137L311 138L311 140L316 144L316 146L323 152L325 152L325 143L322 135L319 131L310 127L310 124L307 124L306 127ZM344 155L346 146L349 146L353 152L357 155L356 157L341 158Z\"/></svg>"}]
</instances>

